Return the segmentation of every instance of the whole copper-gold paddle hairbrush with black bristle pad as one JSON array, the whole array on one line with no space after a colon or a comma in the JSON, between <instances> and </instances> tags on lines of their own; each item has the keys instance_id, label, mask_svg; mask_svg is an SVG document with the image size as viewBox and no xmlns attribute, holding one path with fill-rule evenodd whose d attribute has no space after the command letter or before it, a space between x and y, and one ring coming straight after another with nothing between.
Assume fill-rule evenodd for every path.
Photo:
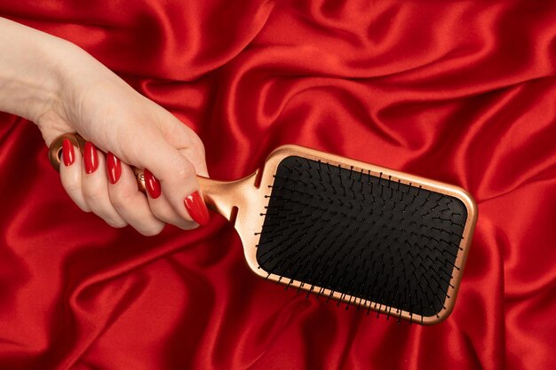
<instances>
[{"instance_id":1,"label":"whole copper-gold paddle hairbrush with black bristle pad","mask_svg":"<svg viewBox=\"0 0 556 370\"><path fill-rule=\"evenodd\" d=\"M84 143L55 140L57 169L63 138ZM465 190L293 145L241 180L198 180L258 276L386 318L434 324L452 311L477 219Z\"/></svg>"}]
</instances>

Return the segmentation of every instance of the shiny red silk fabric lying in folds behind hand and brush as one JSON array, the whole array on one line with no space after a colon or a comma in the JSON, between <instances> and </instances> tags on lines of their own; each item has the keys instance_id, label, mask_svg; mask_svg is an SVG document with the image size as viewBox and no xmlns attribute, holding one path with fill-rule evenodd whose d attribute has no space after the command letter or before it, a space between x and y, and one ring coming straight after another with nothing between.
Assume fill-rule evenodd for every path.
<instances>
[{"instance_id":1,"label":"shiny red silk fabric lying in folds behind hand and brush","mask_svg":"<svg viewBox=\"0 0 556 370\"><path fill-rule=\"evenodd\" d=\"M234 229L111 229L0 115L2 369L546 369L556 361L556 4L19 1L203 139L211 177L295 143L465 187L456 308L396 324L258 279Z\"/></svg>"}]
</instances>

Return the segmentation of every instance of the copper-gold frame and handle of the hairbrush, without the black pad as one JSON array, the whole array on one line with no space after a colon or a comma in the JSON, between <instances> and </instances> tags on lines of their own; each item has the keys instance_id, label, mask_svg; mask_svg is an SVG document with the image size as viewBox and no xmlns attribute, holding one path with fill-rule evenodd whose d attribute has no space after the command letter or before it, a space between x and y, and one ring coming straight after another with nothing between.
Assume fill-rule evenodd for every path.
<instances>
[{"instance_id":1,"label":"copper-gold frame and handle of the hairbrush, without the black pad","mask_svg":"<svg viewBox=\"0 0 556 370\"><path fill-rule=\"evenodd\" d=\"M55 169L60 168L61 146L64 138L68 138L75 147L83 151L84 139L79 135L65 134L57 138L50 148L50 160ZM330 289L323 289L321 291L322 287L313 286L313 288L311 288L312 286L310 284L305 284L298 280L290 281L289 278L283 279L279 275L273 273L269 274L269 272L263 270L257 262L257 245L265 221L265 217L260 216L260 214L266 213L265 207L268 206L270 197L265 198L265 196L271 193L272 189L268 185L274 184L274 174L278 169L278 165L284 158L290 156L299 156L309 160L322 161L322 163L327 163L336 167L338 167L338 165L344 168L351 168L353 166L354 171L360 172L363 170L364 173L370 171L370 174L373 176L378 176L382 173L383 177L391 177L390 181L394 183L400 180L401 184L409 185L410 183L413 186L422 186L423 189L446 194L462 201L467 209L467 219L462 234L463 237L459 245L460 250L455 261L455 266L457 267L454 267L452 271L452 278L449 281L448 291L446 292L447 297L443 303L446 309L439 312L438 315L434 314L433 316L422 317L421 315L415 315L409 311L401 311L390 306L385 306L384 304L369 302L361 297L344 295L336 291L332 292ZM139 189L144 192L145 182L142 170L135 169L135 174L138 179ZM407 319L411 322L425 325L436 324L446 319L453 310L454 304L456 303L457 290L464 271L465 261L469 253L473 229L477 221L476 203L473 201L473 197L464 189L428 178L417 177L393 169L386 169L362 161L355 161L339 155L323 153L314 149L294 145L280 146L275 149L274 152L266 158L266 162L261 169L258 169L255 173L240 180L224 182L206 177L197 178L203 190L204 201L207 206L226 217L226 219L234 225L235 230L237 230L242 240L243 253L247 264L251 271L255 272L261 278L269 279L290 287L297 287L307 292L311 290L320 291L321 295L330 295L333 299L360 306L364 310L370 309L371 311L382 312L393 317ZM359 303L357 303L358 300ZM361 303L363 300L364 303Z\"/></svg>"}]
</instances>

